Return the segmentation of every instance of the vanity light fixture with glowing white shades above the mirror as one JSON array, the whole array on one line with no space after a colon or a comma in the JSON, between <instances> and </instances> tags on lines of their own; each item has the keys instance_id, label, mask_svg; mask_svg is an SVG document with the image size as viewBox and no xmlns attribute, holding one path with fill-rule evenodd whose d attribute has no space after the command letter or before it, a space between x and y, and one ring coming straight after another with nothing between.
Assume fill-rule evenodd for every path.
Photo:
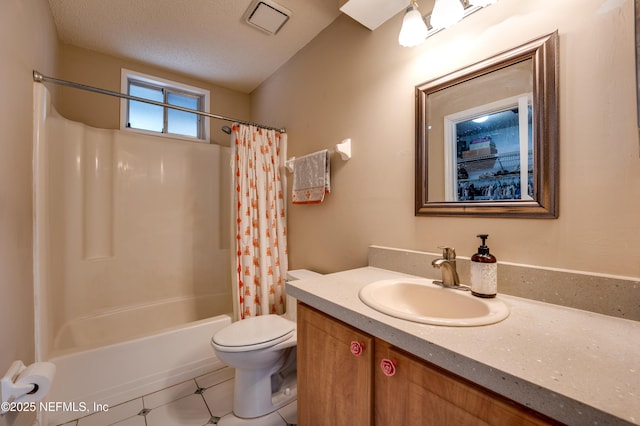
<instances>
[{"instance_id":1,"label":"vanity light fixture with glowing white shades above the mirror","mask_svg":"<svg viewBox=\"0 0 640 426\"><path fill-rule=\"evenodd\" d=\"M417 0L411 0L409 7L404 12L398 43L404 47L417 46L427 37L454 25L472 13L497 1L436 0L431 14L421 16Z\"/></svg>"}]
</instances>

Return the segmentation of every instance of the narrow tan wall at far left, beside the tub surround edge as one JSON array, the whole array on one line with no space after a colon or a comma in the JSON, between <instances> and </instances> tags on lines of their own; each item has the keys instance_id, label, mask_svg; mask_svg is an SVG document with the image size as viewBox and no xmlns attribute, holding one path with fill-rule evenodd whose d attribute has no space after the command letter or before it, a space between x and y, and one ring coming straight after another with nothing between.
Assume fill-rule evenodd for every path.
<instances>
[{"instance_id":1,"label":"narrow tan wall at far left, beside the tub surround edge","mask_svg":"<svg viewBox=\"0 0 640 426\"><path fill-rule=\"evenodd\" d=\"M57 48L47 0L0 2L0 375L35 359L32 71L55 73Z\"/></svg>"}]
</instances>

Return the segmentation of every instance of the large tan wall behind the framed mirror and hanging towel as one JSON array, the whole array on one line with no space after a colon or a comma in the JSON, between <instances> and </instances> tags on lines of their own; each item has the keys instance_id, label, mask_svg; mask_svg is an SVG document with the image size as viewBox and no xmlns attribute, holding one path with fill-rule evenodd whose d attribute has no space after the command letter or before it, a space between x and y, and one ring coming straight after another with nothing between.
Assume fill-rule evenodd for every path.
<instances>
[{"instance_id":1,"label":"large tan wall behind the framed mirror and hanging towel","mask_svg":"<svg viewBox=\"0 0 640 426\"><path fill-rule=\"evenodd\" d=\"M398 46L401 18L371 32L340 16L252 93L289 156L353 140L325 203L290 206L290 266L362 266L369 244L470 256L488 233L502 261L639 277L633 1L501 0L417 48ZM560 217L415 217L414 87L556 29Z\"/></svg>"}]
</instances>

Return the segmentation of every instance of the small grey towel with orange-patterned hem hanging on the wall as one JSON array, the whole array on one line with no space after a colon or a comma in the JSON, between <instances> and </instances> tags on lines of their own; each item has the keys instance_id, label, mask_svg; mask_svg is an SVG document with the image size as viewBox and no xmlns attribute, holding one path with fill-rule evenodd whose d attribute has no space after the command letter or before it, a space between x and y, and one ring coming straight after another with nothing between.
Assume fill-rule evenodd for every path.
<instances>
[{"instance_id":1,"label":"small grey towel with orange-patterned hem hanging on the wall","mask_svg":"<svg viewBox=\"0 0 640 426\"><path fill-rule=\"evenodd\" d=\"M331 191L329 150L314 152L293 161L293 204L316 204Z\"/></svg>"}]
</instances>

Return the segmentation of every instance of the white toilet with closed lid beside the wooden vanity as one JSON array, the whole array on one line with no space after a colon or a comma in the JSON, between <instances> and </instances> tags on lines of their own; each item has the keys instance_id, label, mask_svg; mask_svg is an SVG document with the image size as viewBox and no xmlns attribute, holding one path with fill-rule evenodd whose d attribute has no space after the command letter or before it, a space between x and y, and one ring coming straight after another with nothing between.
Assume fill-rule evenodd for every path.
<instances>
[{"instance_id":1,"label":"white toilet with closed lid beside the wooden vanity","mask_svg":"<svg viewBox=\"0 0 640 426\"><path fill-rule=\"evenodd\" d=\"M287 272L287 281L319 275L298 269ZM233 414L218 425L286 424L275 411L297 397L295 307L295 299L287 295L285 314L236 321L211 338L218 359L235 368Z\"/></svg>"}]
</instances>

